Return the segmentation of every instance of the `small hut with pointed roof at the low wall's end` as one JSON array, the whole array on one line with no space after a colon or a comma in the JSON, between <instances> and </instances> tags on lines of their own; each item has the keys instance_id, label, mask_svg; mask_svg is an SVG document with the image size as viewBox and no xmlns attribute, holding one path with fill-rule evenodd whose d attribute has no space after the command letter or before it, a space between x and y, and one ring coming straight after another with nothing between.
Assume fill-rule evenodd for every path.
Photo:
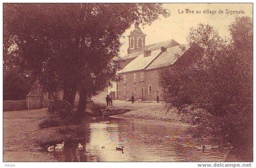
<instances>
[{"instance_id":1,"label":"small hut with pointed roof at the low wall's end","mask_svg":"<svg viewBox=\"0 0 256 168\"><path fill-rule=\"evenodd\" d=\"M41 108L41 95L37 91L31 91L26 97L27 109L39 109Z\"/></svg>"}]
</instances>

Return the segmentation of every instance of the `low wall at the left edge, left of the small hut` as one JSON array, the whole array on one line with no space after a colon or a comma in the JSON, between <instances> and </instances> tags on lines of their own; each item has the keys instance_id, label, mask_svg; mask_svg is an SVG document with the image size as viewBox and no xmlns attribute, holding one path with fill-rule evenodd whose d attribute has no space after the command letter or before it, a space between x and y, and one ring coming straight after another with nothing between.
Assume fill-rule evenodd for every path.
<instances>
[{"instance_id":1,"label":"low wall at the left edge, left of the small hut","mask_svg":"<svg viewBox=\"0 0 256 168\"><path fill-rule=\"evenodd\" d=\"M20 101L4 101L3 102L3 111L17 111L17 110L26 110L26 100Z\"/></svg>"}]
</instances>

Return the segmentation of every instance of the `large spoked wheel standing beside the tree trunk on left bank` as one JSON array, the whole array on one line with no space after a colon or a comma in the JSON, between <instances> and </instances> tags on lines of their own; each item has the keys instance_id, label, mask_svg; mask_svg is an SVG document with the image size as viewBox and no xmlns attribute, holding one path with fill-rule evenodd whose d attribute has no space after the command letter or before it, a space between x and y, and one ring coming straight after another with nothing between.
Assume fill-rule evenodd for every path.
<instances>
[{"instance_id":1,"label":"large spoked wheel standing beside the tree trunk on left bank","mask_svg":"<svg viewBox=\"0 0 256 168\"><path fill-rule=\"evenodd\" d=\"M71 104L65 100L55 100L48 105L47 116L53 121L70 121L73 115Z\"/></svg>"}]
</instances>

